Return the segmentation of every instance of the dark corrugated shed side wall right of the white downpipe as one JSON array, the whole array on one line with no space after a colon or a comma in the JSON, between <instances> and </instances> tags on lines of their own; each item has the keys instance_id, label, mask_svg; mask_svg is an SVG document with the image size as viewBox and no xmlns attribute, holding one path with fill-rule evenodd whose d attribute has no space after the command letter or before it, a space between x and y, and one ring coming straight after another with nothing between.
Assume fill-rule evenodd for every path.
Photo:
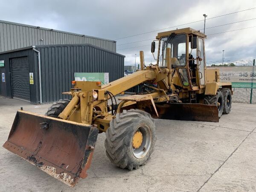
<instances>
[{"instance_id":1,"label":"dark corrugated shed side wall right of the white downpipe","mask_svg":"<svg viewBox=\"0 0 256 192\"><path fill-rule=\"evenodd\" d=\"M36 47L41 54L42 101L67 99L75 72L109 73L109 81L124 76L124 55L87 45Z\"/></svg>"}]
</instances>

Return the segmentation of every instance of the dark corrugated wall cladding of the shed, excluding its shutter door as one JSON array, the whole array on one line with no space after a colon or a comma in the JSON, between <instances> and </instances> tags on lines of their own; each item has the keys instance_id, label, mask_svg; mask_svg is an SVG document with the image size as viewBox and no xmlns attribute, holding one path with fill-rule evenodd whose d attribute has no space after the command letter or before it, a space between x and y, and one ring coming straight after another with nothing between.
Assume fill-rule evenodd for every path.
<instances>
[{"instance_id":1,"label":"dark corrugated wall cladding of the shed, excluding its shutter door","mask_svg":"<svg viewBox=\"0 0 256 192\"><path fill-rule=\"evenodd\" d=\"M69 96L62 92L69 91L75 72L109 73L109 81L114 81L124 76L124 55L110 52L106 49L84 45L41 45L35 47L41 55L41 85L42 102L53 102L58 99L67 99ZM10 71L11 58L28 56L29 72L34 73L34 84L30 86L30 101L38 104L39 72L38 54L32 47L0 53L0 60L5 61L6 90L1 96L12 98L12 81ZM29 78L29 74L27 76Z\"/></svg>"}]
</instances>

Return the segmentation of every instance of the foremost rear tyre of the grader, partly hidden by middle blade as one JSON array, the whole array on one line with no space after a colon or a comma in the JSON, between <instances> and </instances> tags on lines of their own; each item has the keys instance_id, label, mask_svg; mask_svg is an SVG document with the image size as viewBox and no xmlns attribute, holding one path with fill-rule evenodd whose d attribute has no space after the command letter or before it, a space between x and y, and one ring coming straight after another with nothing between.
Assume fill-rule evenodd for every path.
<instances>
[{"instance_id":1,"label":"foremost rear tyre of the grader, partly hidden by middle blade","mask_svg":"<svg viewBox=\"0 0 256 192\"><path fill-rule=\"evenodd\" d=\"M206 95L204 97L204 104L216 105L218 107L218 116L221 118L224 107L223 94L220 90L217 90L216 95Z\"/></svg>"}]
</instances>

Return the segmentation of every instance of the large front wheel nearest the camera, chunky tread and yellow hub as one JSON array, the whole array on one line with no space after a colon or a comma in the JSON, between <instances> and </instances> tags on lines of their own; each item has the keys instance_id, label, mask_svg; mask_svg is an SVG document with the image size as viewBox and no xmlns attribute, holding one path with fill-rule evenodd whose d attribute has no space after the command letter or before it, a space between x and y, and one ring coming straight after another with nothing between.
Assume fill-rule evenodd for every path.
<instances>
[{"instance_id":1,"label":"large front wheel nearest the camera, chunky tread and yellow hub","mask_svg":"<svg viewBox=\"0 0 256 192\"><path fill-rule=\"evenodd\" d=\"M143 138L138 148L134 148L135 133ZM138 169L149 159L156 139L154 120L149 113L138 109L123 110L111 120L106 131L106 154L122 169Z\"/></svg>"}]
</instances>

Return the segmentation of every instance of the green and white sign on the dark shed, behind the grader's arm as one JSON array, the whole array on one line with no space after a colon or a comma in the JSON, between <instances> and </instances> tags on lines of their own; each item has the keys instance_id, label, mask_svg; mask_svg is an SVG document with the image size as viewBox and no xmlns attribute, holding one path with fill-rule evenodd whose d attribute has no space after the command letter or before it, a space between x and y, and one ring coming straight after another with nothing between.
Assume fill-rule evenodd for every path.
<instances>
[{"instance_id":1,"label":"green and white sign on the dark shed, behind the grader's arm","mask_svg":"<svg viewBox=\"0 0 256 192\"><path fill-rule=\"evenodd\" d=\"M100 81L108 84L108 73L75 73L75 81Z\"/></svg>"}]
</instances>

